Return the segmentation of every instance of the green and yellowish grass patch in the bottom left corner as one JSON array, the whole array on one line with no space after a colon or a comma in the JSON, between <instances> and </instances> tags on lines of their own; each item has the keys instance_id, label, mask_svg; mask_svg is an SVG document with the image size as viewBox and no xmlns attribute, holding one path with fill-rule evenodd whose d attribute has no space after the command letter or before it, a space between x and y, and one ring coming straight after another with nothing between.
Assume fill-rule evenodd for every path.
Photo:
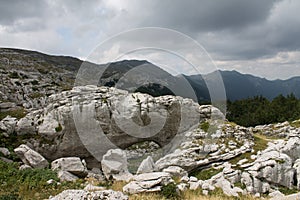
<instances>
[{"instance_id":1,"label":"green and yellowish grass patch in the bottom left corner","mask_svg":"<svg viewBox=\"0 0 300 200\"><path fill-rule=\"evenodd\" d=\"M19 170L18 167L16 163L0 161L0 199L45 199L69 188L83 187L82 180L61 185L47 184L49 179L59 181L56 172L50 169Z\"/></svg>"}]
</instances>

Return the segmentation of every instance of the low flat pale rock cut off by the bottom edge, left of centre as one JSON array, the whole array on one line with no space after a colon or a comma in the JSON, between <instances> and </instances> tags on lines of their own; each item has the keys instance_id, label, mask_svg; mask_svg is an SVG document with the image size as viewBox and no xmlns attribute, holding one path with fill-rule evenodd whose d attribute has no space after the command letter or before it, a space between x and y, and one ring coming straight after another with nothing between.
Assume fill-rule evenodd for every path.
<instances>
[{"instance_id":1,"label":"low flat pale rock cut off by the bottom edge, left of centre","mask_svg":"<svg viewBox=\"0 0 300 200\"><path fill-rule=\"evenodd\" d=\"M62 193L50 197L49 200L98 200L98 199L110 199L110 200L128 200L128 196L122 192L113 190L93 191L89 192L86 190L65 190Z\"/></svg>"}]
</instances>

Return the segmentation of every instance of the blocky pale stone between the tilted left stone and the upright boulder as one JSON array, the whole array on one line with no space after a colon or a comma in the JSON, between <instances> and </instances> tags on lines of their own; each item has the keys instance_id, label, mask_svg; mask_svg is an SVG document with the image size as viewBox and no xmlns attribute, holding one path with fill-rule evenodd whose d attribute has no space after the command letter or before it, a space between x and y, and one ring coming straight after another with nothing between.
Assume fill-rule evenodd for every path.
<instances>
[{"instance_id":1,"label":"blocky pale stone between the tilted left stone and the upright boulder","mask_svg":"<svg viewBox=\"0 0 300 200\"><path fill-rule=\"evenodd\" d=\"M55 171L67 171L81 177L87 175L87 169L78 157L65 157L56 159L52 161L51 169Z\"/></svg>"}]
</instances>

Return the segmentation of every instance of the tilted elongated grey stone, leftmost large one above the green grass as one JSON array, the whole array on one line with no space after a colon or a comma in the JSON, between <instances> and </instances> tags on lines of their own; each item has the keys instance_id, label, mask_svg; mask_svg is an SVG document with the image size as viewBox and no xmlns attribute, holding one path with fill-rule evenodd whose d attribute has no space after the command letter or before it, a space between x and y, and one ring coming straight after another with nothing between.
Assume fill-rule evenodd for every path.
<instances>
[{"instance_id":1,"label":"tilted elongated grey stone, leftmost large one above the green grass","mask_svg":"<svg viewBox=\"0 0 300 200\"><path fill-rule=\"evenodd\" d=\"M14 152L20 157L24 164L33 168L47 168L49 166L48 161L41 154L32 150L25 144L14 149Z\"/></svg>"}]
</instances>

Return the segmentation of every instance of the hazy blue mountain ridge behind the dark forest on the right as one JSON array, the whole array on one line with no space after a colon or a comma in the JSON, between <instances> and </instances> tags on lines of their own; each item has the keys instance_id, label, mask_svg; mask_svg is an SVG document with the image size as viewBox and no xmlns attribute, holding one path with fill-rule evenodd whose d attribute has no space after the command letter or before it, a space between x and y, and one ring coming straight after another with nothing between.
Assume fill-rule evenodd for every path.
<instances>
[{"instance_id":1,"label":"hazy blue mountain ridge behind the dark forest on the right","mask_svg":"<svg viewBox=\"0 0 300 200\"><path fill-rule=\"evenodd\" d=\"M185 77L199 96L209 100L206 83L214 81L212 77L215 77L215 73L220 73L222 76L226 96L229 100L245 99L260 95L273 99L279 94L288 95L291 93L300 98L300 77L293 77L288 80L267 80L249 74L241 74L237 71L218 71L207 75Z\"/></svg>"}]
</instances>

